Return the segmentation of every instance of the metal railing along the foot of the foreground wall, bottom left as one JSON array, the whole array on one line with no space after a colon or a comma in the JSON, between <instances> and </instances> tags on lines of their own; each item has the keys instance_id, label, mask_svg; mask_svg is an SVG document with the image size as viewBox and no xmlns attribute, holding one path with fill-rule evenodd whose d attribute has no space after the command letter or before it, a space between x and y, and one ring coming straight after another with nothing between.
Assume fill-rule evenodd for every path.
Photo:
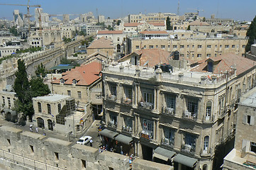
<instances>
[{"instance_id":1,"label":"metal railing along the foot of the foreground wall, bottom left","mask_svg":"<svg viewBox=\"0 0 256 170\"><path fill-rule=\"evenodd\" d=\"M14 162L15 164L21 164L22 166L31 167L33 169L43 169L43 170L55 170L62 168L52 166L50 164L46 164L45 162L39 162L34 159L30 159L28 157L24 157L19 154L13 154L11 152L4 151L0 149L0 157L6 159L8 161ZM64 170L64 169L63 169Z\"/></svg>"}]
</instances>

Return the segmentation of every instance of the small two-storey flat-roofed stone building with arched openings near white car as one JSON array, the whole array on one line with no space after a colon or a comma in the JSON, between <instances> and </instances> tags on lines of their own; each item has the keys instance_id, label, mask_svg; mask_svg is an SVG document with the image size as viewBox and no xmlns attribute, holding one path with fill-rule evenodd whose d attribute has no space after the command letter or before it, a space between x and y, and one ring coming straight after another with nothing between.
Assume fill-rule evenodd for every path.
<instances>
[{"instance_id":1,"label":"small two-storey flat-roofed stone building with arched openings near white car","mask_svg":"<svg viewBox=\"0 0 256 170\"><path fill-rule=\"evenodd\" d=\"M76 108L74 98L59 94L33 98L33 122L38 128L75 137L81 136L92 123L89 108Z\"/></svg>"}]
</instances>

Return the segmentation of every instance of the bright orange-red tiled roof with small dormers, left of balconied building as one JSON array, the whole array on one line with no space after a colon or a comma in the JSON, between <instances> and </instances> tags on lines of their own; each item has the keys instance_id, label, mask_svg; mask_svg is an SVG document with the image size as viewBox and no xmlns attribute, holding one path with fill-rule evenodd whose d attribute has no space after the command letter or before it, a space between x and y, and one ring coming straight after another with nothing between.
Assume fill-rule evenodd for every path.
<instances>
[{"instance_id":1,"label":"bright orange-red tiled roof with small dormers, left of balconied building","mask_svg":"<svg viewBox=\"0 0 256 170\"><path fill-rule=\"evenodd\" d=\"M94 81L99 79L99 74L101 72L101 63L90 62L89 64L81 65L80 67L75 67L70 71L62 74L62 78L65 79L65 84L72 84L73 80L77 80L77 85L79 86L89 86ZM53 84L60 84L60 79L52 81Z\"/></svg>"}]
</instances>

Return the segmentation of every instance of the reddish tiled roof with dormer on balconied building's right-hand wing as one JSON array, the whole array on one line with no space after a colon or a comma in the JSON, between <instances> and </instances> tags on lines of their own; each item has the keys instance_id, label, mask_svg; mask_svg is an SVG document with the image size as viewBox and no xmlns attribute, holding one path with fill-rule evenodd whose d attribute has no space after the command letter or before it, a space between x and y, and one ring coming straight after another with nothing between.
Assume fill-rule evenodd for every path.
<instances>
[{"instance_id":1,"label":"reddish tiled roof with dormer on balconied building's right-hand wing","mask_svg":"<svg viewBox=\"0 0 256 170\"><path fill-rule=\"evenodd\" d=\"M216 67L214 67L213 74L221 74L221 72L230 71L231 67L235 66L237 70L237 74L242 74L248 69L255 67L256 63L250 59L245 57L240 57L238 55L234 55L232 53L218 55L217 57L210 57L202 64L191 69L192 72L206 72L203 69L207 66L208 60L212 60L213 62L218 62Z\"/></svg>"}]
</instances>

